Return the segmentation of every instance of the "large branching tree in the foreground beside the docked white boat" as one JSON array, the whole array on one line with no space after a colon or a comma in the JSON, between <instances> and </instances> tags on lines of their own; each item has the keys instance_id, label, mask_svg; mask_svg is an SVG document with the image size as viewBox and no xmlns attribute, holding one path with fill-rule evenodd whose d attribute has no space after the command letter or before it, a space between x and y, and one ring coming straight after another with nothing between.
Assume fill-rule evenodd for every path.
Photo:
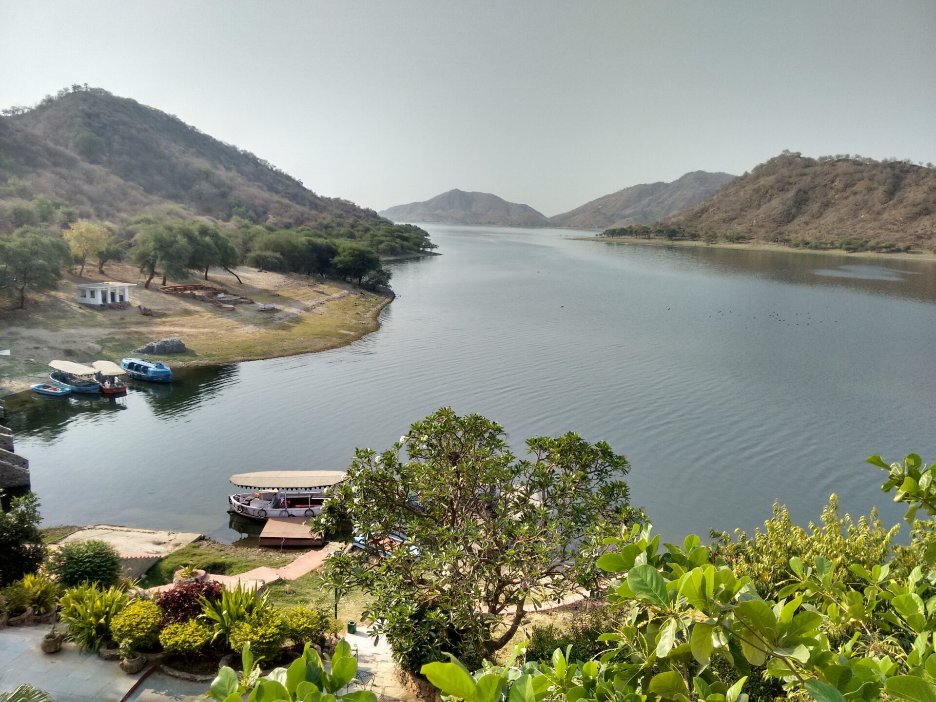
<instances>
[{"instance_id":1,"label":"large branching tree in the foreground beside the docked white boat","mask_svg":"<svg viewBox=\"0 0 936 702\"><path fill-rule=\"evenodd\" d=\"M579 548L638 514L621 479L629 464L606 443L570 432L526 446L531 458L518 459L498 424L440 409L383 453L358 449L330 490L317 528L350 519L366 550L329 558L327 577L373 596L366 616L405 669L440 648L501 649L532 599L592 585Z\"/></svg>"}]
</instances>

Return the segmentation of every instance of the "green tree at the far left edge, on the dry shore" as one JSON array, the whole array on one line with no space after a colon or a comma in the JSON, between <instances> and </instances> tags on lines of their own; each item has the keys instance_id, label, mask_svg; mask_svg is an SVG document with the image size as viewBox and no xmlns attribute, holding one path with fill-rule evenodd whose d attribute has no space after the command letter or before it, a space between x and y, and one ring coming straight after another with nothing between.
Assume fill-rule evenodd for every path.
<instances>
[{"instance_id":1,"label":"green tree at the far left edge, on the dry shore","mask_svg":"<svg viewBox=\"0 0 936 702\"><path fill-rule=\"evenodd\" d=\"M22 310L26 289L54 289L70 257L61 238L36 227L21 227L0 238L0 291L16 291Z\"/></svg>"}]
</instances>

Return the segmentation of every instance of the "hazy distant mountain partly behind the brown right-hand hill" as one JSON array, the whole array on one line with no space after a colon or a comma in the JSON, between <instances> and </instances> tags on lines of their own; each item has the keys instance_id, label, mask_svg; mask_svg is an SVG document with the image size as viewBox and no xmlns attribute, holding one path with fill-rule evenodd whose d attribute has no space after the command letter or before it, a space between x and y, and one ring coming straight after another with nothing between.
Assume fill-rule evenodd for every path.
<instances>
[{"instance_id":1,"label":"hazy distant mountain partly behind the brown right-hand hill","mask_svg":"<svg viewBox=\"0 0 936 702\"><path fill-rule=\"evenodd\" d=\"M694 170L672 183L642 183L549 217L554 227L607 229L647 224L695 205L736 176Z\"/></svg>"}]
</instances>

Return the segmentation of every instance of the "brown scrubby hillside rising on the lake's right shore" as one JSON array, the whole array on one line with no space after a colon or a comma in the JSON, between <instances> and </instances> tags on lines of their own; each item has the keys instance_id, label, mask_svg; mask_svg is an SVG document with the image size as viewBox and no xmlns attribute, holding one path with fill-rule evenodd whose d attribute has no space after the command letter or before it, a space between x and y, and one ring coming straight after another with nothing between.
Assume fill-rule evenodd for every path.
<instances>
[{"instance_id":1,"label":"brown scrubby hillside rising on the lake's right shore","mask_svg":"<svg viewBox=\"0 0 936 702\"><path fill-rule=\"evenodd\" d=\"M857 239L929 249L936 245L936 169L783 152L664 223L736 241Z\"/></svg>"}]
</instances>

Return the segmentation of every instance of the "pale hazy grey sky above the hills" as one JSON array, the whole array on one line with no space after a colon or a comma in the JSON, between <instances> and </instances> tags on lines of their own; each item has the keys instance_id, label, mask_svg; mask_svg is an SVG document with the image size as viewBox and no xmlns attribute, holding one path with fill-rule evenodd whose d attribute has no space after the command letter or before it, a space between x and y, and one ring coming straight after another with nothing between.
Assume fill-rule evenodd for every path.
<instances>
[{"instance_id":1,"label":"pale hazy grey sky above the hills","mask_svg":"<svg viewBox=\"0 0 936 702\"><path fill-rule=\"evenodd\" d=\"M323 195L551 215L782 149L936 161L936 2L0 0L0 106L73 82Z\"/></svg>"}]
</instances>

